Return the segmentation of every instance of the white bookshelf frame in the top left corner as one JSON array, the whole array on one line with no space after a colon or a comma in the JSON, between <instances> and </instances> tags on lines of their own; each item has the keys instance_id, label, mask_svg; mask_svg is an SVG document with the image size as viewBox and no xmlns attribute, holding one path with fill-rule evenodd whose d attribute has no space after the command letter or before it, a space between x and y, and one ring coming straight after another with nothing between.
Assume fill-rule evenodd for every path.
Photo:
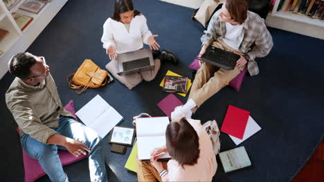
<instances>
[{"instance_id":1,"label":"white bookshelf frame in the top left corner","mask_svg":"<svg viewBox=\"0 0 324 182\"><path fill-rule=\"evenodd\" d=\"M9 32L9 34L0 41L0 50L3 51L3 54L0 56L0 79L8 72L9 59L19 52L26 51L30 44L35 41L38 35L68 0L53 0L51 3L47 3L38 14L19 10L19 6L21 6L21 3L24 3L24 1L25 0L19 1L15 8L8 10L3 1L0 0L0 28ZM15 19L13 19L11 15L12 12L18 12L19 14L33 17L33 21L31 21L24 31L21 32Z\"/></svg>"}]
</instances>

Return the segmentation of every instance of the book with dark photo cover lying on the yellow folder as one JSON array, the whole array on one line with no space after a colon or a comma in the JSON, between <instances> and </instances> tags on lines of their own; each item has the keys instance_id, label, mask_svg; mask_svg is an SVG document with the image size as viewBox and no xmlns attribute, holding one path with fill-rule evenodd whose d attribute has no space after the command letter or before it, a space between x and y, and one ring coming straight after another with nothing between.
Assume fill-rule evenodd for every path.
<instances>
[{"instance_id":1,"label":"book with dark photo cover lying on the yellow folder","mask_svg":"<svg viewBox=\"0 0 324 182\"><path fill-rule=\"evenodd\" d=\"M164 77L164 92L177 92L177 93L187 93L187 77L177 77L165 75Z\"/></svg>"}]
</instances>

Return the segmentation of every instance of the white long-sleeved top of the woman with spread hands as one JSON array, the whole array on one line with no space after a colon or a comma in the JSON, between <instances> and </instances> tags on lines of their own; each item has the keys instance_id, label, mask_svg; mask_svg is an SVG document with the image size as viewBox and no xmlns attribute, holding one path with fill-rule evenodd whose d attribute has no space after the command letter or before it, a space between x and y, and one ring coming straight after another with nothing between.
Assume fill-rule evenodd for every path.
<instances>
[{"instance_id":1,"label":"white long-sleeved top of the woman with spread hands","mask_svg":"<svg viewBox=\"0 0 324 182\"><path fill-rule=\"evenodd\" d=\"M117 54L131 52L143 48L151 35L143 14L132 19L128 31L124 23L109 18L103 25L102 47L107 50L112 45Z\"/></svg>"}]
</instances>

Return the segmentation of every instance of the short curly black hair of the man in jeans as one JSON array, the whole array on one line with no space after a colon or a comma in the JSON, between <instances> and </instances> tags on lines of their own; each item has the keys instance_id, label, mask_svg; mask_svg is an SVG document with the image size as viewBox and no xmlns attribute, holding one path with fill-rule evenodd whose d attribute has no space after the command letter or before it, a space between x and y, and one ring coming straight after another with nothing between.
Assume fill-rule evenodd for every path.
<instances>
[{"instance_id":1,"label":"short curly black hair of the man in jeans","mask_svg":"<svg viewBox=\"0 0 324 182\"><path fill-rule=\"evenodd\" d=\"M16 54L9 61L9 72L19 79L26 79L30 75L30 68L35 65L36 59L28 52Z\"/></svg>"}]
</instances>

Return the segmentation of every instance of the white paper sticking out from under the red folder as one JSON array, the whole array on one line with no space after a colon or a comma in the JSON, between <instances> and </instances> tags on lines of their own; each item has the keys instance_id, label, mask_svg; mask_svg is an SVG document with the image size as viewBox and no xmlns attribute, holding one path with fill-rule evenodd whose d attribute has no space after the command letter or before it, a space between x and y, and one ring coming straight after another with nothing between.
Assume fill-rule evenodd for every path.
<instances>
[{"instance_id":1,"label":"white paper sticking out from under the red folder","mask_svg":"<svg viewBox=\"0 0 324 182\"><path fill-rule=\"evenodd\" d=\"M251 116L249 116L249 120L246 123L243 139L237 139L235 136L231 136L229 134L228 136L231 137L231 139L234 141L236 145L239 145L240 143L242 143L243 141L245 141L250 136L252 136L253 134L255 134L260 130L261 130L260 125L258 125L258 123L256 123L254 119Z\"/></svg>"}]
</instances>

